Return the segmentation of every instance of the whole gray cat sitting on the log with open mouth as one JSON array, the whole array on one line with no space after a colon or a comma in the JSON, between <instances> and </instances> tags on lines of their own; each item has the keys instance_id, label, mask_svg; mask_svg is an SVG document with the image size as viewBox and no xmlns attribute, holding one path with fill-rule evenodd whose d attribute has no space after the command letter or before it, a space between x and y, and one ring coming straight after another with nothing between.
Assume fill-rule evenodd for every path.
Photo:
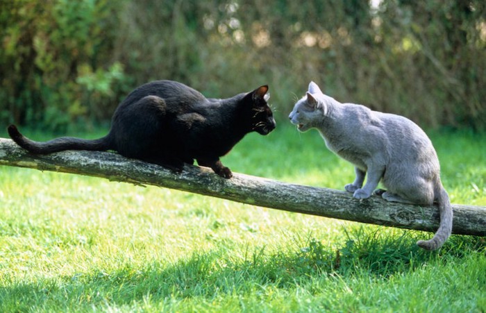
<instances>
[{"instance_id":1,"label":"whole gray cat sitting on the log with open mouth","mask_svg":"<svg viewBox=\"0 0 486 313\"><path fill-rule=\"evenodd\" d=\"M371 194L387 201L416 205L439 204L440 225L435 236L417 244L440 248L452 230L449 195L440 181L437 153L417 124L401 117L372 111L363 105L340 103L310 82L306 95L294 105L290 121L301 132L317 128L326 146L354 164L356 178L344 186L353 197ZM363 186L364 176L368 175ZM387 191L376 189L382 181Z\"/></svg>"}]
</instances>

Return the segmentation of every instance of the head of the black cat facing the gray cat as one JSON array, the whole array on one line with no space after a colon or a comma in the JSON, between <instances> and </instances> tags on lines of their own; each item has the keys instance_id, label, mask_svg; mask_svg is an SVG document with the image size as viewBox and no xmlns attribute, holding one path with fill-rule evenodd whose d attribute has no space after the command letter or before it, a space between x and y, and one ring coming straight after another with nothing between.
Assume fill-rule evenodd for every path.
<instances>
[{"instance_id":1,"label":"head of the black cat facing the gray cat","mask_svg":"<svg viewBox=\"0 0 486 313\"><path fill-rule=\"evenodd\" d=\"M246 96L251 101L251 131L268 135L276 127L274 112L271 112L267 101L270 98L268 86L263 85Z\"/></svg>"}]
</instances>

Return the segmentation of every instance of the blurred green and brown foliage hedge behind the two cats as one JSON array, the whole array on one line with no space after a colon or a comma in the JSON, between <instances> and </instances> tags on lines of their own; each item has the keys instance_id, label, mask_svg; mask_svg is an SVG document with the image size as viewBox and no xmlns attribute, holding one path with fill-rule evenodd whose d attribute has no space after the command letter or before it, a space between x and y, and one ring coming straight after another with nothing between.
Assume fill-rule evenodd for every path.
<instances>
[{"instance_id":1,"label":"blurred green and brown foliage hedge behind the two cats","mask_svg":"<svg viewBox=\"0 0 486 313\"><path fill-rule=\"evenodd\" d=\"M424 128L486 129L486 2L0 0L0 121L110 120L133 88L224 98L268 84L286 117L309 81Z\"/></svg>"}]
</instances>

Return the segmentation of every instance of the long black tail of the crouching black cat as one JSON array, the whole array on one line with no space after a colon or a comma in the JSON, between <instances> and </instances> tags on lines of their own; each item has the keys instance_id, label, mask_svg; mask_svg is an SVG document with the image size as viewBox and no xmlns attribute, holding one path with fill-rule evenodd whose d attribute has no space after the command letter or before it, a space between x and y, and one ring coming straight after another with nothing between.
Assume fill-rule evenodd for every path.
<instances>
[{"instance_id":1,"label":"long black tail of the crouching black cat","mask_svg":"<svg viewBox=\"0 0 486 313\"><path fill-rule=\"evenodd\" d=\"M65 150L106 151L113 149L110 134L100 139L88 140L75 137L59 137L48 142L35 142L22 135L17 126L8 126L8 135L27 151L35 154L47 154Z\"/></svg>"}]
</instances>

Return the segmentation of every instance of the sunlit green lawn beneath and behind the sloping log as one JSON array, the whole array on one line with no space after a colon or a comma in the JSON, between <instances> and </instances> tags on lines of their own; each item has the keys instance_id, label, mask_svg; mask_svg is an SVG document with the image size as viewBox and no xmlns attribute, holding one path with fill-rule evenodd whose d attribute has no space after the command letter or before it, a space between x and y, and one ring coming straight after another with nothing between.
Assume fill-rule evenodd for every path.
<instances>
[{"instance_id":1,"label":"sunlit green lawn beneath and behind the sloping log","mask_svg":"<svg viewBox=\"0 0 486 313\"><path fill-rule=\"evenodd\" d=\"M430 137L452 201L486 205L486 135ZM281 125L223 162L335 189L353 180L317 133ZM12 167L0 167L0 208L0 312L486 310L484 238L430 253L414 244L426 232Z\"/></svg>"}]
</instances>

